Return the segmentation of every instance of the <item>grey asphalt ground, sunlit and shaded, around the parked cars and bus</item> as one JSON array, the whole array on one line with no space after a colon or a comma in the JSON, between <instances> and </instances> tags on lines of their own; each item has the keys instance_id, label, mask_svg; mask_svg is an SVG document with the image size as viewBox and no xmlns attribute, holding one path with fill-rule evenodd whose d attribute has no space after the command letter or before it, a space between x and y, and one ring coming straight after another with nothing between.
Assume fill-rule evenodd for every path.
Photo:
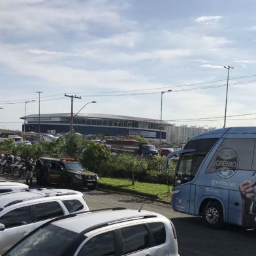
<instances>
[{"instance_id":1,"label":"grey asphalt ground, sunlit and shaded, around the parked cars and bus","mask_svg":"<svg viewBox=\"0 0 256 256\"><path fill-rule=\"evenodd\" d=\"M2 178L3 176L0 176L0 179ZM21 180L21 182L24 181ZM232 225L227 225L225 229L212 230L203 225L200 217L179 214L170 206L160 202L103 191L84 189L82 192L91 210L115 206L139 209L144 203L143 209L159 212L168 217L176 227L179 251L182 256L253 256L256 253L255 230L248 231Z\"/></svg>"}]
</instances>

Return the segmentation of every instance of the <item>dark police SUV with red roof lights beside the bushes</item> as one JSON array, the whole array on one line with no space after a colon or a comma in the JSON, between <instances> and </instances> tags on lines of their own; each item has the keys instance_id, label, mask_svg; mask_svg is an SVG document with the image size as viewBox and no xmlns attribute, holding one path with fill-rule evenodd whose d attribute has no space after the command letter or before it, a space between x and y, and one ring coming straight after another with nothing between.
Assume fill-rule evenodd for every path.
<instances>
[{"instance_id":1,"label":"dark police SUV with red roof lights beside the bushes","mask_svg":"<svg viewBox=\"0 0 256 256\"><path fill-rule=\"evenodd\" d=\"M86 170L81 163L72 158L40 157L46 170L47 184L66 185L67 187L88 187L95 189L99 177L94 172Z\"/></svg>"}]
</instances>

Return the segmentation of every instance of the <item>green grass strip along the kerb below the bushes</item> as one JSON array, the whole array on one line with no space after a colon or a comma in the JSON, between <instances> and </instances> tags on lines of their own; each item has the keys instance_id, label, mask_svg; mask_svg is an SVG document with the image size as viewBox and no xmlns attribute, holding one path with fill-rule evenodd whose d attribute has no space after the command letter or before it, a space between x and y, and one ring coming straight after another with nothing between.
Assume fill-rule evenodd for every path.
<instances>
[{"instance_id":1,"label":"green grass strip along the kerb below the bushes","mask_svg":"<svg viewBox=\"0 0 256 256\"><path fill-rule=\"evenodd\" d=\"M170 201L170 193L168 192L168 187L164 184L135 182L135 185L131 185L131 180L118 178L101 178L101 180L99 180L99 187L131 193L134 195L142 195L152 199ZM171 189L172 187L170 187L170 191Z\"/></svg>"}]
</instances>

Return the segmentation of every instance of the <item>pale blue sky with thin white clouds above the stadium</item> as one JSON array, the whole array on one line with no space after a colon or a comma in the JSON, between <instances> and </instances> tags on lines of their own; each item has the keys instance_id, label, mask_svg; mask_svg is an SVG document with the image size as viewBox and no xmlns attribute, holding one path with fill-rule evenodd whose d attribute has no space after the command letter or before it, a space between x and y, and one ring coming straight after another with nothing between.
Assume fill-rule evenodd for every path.
<instances>
[{"instance_id":1,"label":"pale blue sky with thin white clouds above the stadium","mask_svg":"<svg viewBox=\"0 0 256 256\"><path fill-rule=\"evenodd\" d=\"M1 0L0 128L74 112L256 125L254 0ZM255 114L254 114L255 113ZM205 119L208 118L208 119ZM209 119L210 118L210 119Z\"/></svg>"}]
</instances>

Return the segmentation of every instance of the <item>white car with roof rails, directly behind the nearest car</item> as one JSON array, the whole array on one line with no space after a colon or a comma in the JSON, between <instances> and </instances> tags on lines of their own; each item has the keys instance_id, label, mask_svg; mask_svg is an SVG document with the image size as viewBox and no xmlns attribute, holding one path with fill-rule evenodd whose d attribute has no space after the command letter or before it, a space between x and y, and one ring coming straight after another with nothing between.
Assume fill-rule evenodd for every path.
<instances>
[{"instance_id":1,"label":"white car with roof rails, directly behind the nearest car","mask_svg":"<svg viewBox=\"0 0 256 256\"><path fill-rule=\"evenodd\" d=\"M84 210L89 208L82 193L68 189L29 189L1 195L0 254L49 219Z\"/></svg>"}]
</instances>

